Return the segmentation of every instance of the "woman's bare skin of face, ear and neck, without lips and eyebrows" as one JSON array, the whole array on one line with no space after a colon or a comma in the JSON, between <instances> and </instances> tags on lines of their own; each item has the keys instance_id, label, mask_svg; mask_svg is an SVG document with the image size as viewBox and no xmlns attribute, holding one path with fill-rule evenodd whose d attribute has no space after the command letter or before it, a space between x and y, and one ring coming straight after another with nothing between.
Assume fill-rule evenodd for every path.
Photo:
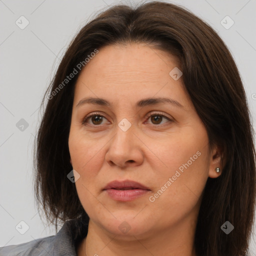
<instances>
[{"instance_id":1,"label":"woman's bare skin of face, ear and neck, without lips and eyebrows","mask_svg":"<svg viewBox=\"0 0 256 256\"><path fill-rule=\"evenodd\" d=\"M209 147L181 78L169 75L174 67L179 67L174 56L137 43L100 48L79 74L68 145L70 162L80 175L75 175L77 194L90 220L78 256L196 255L193 240L201 195L207 178L219 176L215 168L221 170L220 148ZM76 107L89 96L102 97L111 106ZM159 103L135 108L135 102L146 97L169 97L183 107ZM150 117L155 111L172 121L163 115L155 121ZM95 112L102 116L100 122L92 117L82 124ZM123 118L131 124L126 131L118 126ZM197 159L149 201L198 151ZM116 201L102 191L115 179L138 181L150 191L131 201ZM130 228L126 233L118 228L123 221Z\"/></svg>"}]
</instances>

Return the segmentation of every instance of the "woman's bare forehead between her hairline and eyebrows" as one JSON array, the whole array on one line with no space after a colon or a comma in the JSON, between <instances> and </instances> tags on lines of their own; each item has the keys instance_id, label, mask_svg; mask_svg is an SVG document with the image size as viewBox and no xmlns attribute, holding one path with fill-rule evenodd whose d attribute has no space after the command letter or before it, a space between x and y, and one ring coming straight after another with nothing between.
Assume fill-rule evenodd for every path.
<instances>
[{"instance_id":1,"label":"woman's bare forehead between her hairline and eyebrows","mask_svg":"<svg viewBox=\"0 0 256 256\"><path fill-rule=\"evenodd\" d=\"M122 100L169 96L184 101L182 80L169 72L178 59L163 50L144 44L108 45L100 48L81 70L75 85L75 101L84 96ZM180 67L179 67L180 68Z\"/></svg>"}]
</instances>

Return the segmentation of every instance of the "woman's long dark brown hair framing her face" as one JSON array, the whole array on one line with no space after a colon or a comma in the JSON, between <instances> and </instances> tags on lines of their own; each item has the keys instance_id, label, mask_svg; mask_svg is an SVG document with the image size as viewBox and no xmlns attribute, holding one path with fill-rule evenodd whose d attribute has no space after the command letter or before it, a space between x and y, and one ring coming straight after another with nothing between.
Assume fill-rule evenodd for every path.
<instances>
[{"instance_id":1,"label":"woman's long dark brown hair framing her face","mask_svg":"<svg viewBox=\"0 0 256 256\"><path fill-rule=\"evenodd\" d=\"M218 178L208 178L202 195L194 245L199 256L245 256L254 221L255 149L247 100L236 64L224 42L204 21L184 7L147 2L136 8L116 5L99 13L70 42L46 94L34 155L35 195L47 220L81 217L88 222L67 174L68 135L78 72L75 66L96 49L110 44L147 43L174 54L190 99L207 130L209 144L220 144L225 165ZM41 106L43 105L42 101ZM229 221L234 230L220 226Z\"/></svg>"}]
</instances>

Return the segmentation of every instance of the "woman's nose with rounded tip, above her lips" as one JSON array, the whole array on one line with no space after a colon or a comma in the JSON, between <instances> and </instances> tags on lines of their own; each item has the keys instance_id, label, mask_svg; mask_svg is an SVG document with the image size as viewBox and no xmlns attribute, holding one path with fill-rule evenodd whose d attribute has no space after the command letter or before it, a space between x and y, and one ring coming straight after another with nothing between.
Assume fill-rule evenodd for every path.
<instances>
[{"instance_id":1,"label":"woman's nose with rounded tip, above her lips","mask_svg":"<svg viewBox=\"0 0 256 256\"><path fill-rule=\"evenodd\" d=\"M105 160L110 166L125 168L143 162L143 143L133 131L132 126L126 131L116 127L116 133L108 142L105 154Z\"/></svg>"}]
</instances>

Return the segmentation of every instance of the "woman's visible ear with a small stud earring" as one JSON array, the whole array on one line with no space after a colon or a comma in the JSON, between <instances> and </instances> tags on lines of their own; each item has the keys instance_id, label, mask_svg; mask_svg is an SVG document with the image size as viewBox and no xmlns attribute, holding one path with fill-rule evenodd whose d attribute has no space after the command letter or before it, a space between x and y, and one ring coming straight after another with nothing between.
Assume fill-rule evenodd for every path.
<instances>
[{"instance_id":1,"label":"woman's visible ear with a small stud earring","mask_svg":"<svg viewBox=\"0 0 256 256\"><path fill-rule=\"evenodd\" d=\"M219 168L219 172L216 172L216 168ZM209 177L216 178L221 175L223 168L223 149L220 146L214 145L210 153L209 163Z\"/></svg>"}]
</instances>

